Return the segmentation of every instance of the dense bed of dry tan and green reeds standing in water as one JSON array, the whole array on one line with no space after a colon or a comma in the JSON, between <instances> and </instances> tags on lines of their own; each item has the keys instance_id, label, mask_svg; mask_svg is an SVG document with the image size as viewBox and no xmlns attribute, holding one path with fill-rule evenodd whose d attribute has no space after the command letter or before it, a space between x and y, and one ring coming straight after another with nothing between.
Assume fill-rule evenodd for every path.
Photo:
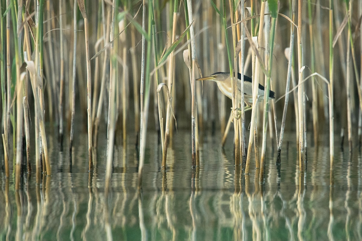
<instances>
[{"instance_id":1,"label":"dense bed of dry tan and green reeds standing in water","mask_svg":"<svg viewBox=\"0 0 362 241\"><path fill-rule=\"evenodd\" d=\"M164 170L172 139L177 138L172 134L176 122L190 130L191 167L200 165L199 150L209 130L225 133L220 139L224 145L233 126L235 165L248 174L254 152L260 182L269 162L265 159L267 147L277 148L280 155L286 131L298 133L295 145L302 172L307 147L317 146L324 132L329 132L331 169L334 130L346 128L350 150L357 146L354 140L360 140L362 134L362 75L358 66L362 7L358 1L183 3L41 0L35 5L30 0L2 1L1 151L6 176L10 160L15 160L18 180L25 146L29 150L28 171L33 161L29 153L35 152L37 176L42 170L51 175L47 135L58 135L60 145L63 136L69 135L68 150L72 152L76 145L74 126L83 125L86 119L90 172L97 138L105 135L107 128L107 178L111 176L114 145L119 144L115 137L122 132L126 143L127 136L137 135L139 186L147 158L147 132L153 129L150 123L159 132ZM322 24L325 21L328 26ZM245 58L244 53L251 53L251 57ZM334 66L337 58L344 61ZM219 93L216 98L219 90L211 83L198 85L195 81L223 71L226 63L232 79L231 102L225 102ZM252 68L247 68L249 63ZM251 113L245 113L244 104L238 101L239 94L244 98L244 81L237 85L237 73L242 80L244 74L252 77ZM265 86L264 108L258 108L259 83ZM269 90L275 92L275 100L268 99ZM28 106L33 111L29 112ZM149 117L152 107L154 119ZM80 122L75 122L77 110ZM29 120L34 120L35 128ZM338 126L334 126L336 122ZM56 133L46 130L53 127L58 128ZM306 133L311 130L313 142L308 142ZM35 142L30 142L30 136Z\"/></svg>"}]
</instances>

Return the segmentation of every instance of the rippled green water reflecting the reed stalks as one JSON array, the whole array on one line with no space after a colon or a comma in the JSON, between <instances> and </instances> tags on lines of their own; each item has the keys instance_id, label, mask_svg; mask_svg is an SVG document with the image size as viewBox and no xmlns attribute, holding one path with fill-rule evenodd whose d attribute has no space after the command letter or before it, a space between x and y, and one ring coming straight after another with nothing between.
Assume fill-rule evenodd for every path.
<instances>
[{"instance_id":1,"label":"rippled green water reflecting the reed stalks","mask_svg":"<svg viewBox=\"0 0 362 241\"><path fill-rule=\"evenodd\" d=\"M203 136L199 169L191 168L190 133L179 130L163 173L157 135L149 133L142 192L135 136L129 133L125 146L117 139L108 196L105 145L98 146L89 175L87 135L76 136L72 166L68 152L50 139L53 174L41 185L35 173L25 174L15 191L13 177L7 180L1 169L0 240L362 240L357 149L336 148L330 173L328 137L321 137L318 150L308 148L303 175L295 133L287 134L280 168L270 147L265 183L259 184L254 161L250 175L235 171L231 136L225 149L218 134Z\"/></svg>"}]
</instances>

